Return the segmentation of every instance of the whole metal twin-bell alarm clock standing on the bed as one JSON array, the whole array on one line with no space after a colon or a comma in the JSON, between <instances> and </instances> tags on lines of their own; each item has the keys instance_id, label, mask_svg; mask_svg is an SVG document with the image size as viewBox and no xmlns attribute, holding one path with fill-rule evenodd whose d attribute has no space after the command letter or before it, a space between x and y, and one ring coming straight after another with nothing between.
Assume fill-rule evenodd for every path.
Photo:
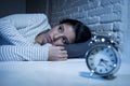
<instances>
[{"instance_id":1,"label":"whole metal twin-bell alarm clock standing on the bed","mask_svg":"<svg viewBox=\"0 0 130 86\"><path fill-rule=\"evenodd\" d=\"M89 46L84 57L90 76L96 74L108 80L114 78L121 63L118 44L110 38L93 35Z\"/></svg>"}]
</instances>

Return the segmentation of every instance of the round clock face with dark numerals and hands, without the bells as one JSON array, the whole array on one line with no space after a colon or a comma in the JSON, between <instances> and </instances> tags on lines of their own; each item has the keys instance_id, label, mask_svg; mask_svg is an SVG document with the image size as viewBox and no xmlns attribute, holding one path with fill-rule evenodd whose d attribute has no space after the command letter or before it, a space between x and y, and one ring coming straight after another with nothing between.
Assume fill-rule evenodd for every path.
<instances>
[{"instance_id":1,"label":"round clock face with dark numerals and hands, without the bells","mask_svg":"<svg viewBox=\"0 0 130 86\"><path fill-rule=\"evenodd\" d=\"M118 58L112 46L96 45L87 54L86 61L89 69L94 73L107 75L117 67Z\"/></svg>"}]
</instances>

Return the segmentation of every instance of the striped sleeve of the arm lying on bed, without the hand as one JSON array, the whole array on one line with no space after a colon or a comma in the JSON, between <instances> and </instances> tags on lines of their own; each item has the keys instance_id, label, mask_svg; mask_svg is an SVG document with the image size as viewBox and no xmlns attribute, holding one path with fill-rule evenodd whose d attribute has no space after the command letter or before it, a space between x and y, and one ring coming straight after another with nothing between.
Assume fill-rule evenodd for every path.
<instances>
[{"instance_id":1,"label":"striped sleeve of the arm lying on bed, without the hand","mask_svg":"<svg viewBox=\"0 0 130 86\"><path fill-rule=\"evenodd\" d=\"M0 46L0 60L1 61L44 61L48 60L50 44L43 46L37 45L1 45Z\"/></svg>"}]
</instances>

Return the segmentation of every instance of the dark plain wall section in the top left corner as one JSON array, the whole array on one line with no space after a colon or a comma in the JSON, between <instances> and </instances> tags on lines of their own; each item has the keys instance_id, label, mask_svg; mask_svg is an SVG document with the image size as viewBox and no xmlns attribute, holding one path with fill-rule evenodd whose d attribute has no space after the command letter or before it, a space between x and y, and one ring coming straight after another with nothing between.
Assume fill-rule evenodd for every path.
<instances>
[{"instance_id":1,"label":"dark plain wall section in the top left corner","mask_svg":"<svg viewBox=\"0 0 130 86\"><path fill-rule=\"evenodd\" d=\"M26 0L0 0L0 17L26 13Z\"/></svg>"}]
</instances>

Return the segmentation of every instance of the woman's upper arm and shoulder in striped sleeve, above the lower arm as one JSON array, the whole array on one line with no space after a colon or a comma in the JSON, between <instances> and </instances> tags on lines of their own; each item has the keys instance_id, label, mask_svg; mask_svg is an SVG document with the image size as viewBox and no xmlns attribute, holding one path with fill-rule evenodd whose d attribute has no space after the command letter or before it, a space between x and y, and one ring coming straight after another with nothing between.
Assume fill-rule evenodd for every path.
<instances>
[{"instance_id":1,"label":"woman's upper arm and shoulder in striped sleeve, above the lower arm","mask_svg":"<svg viewBox=\"0 0 130 86\"><path fill-rule=\"evenodd\" d=\"M0 18L0 37L12 44L29 43L20 32L20 29L26 29L26 32L37 29L40 25L50 27L44 14L14 14ZM42 28L44 28L42 27Z\"/></svg>"}]
</instances>

